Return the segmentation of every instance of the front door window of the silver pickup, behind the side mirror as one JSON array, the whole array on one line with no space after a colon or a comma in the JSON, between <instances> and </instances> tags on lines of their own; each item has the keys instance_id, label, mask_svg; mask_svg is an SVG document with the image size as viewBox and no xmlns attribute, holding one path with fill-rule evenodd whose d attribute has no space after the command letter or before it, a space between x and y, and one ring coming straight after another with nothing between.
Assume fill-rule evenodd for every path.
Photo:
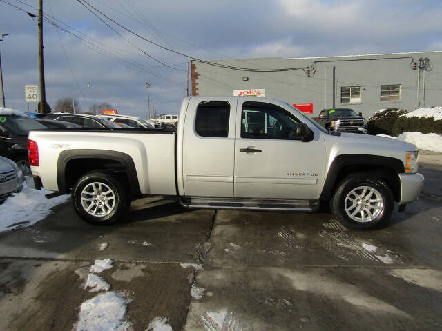
<instances>
[{"instance_id":1,"label":"front door window of the silver pickup, behind the side mirror","mask_svg":"<svg viewBox=\"0 0 442 331\"><path fill-rule=\"evenodd\" d=\"M265 102L242 104L241 137L298 140L300 121L287 110Z\"/></svg>"}]
</instances>

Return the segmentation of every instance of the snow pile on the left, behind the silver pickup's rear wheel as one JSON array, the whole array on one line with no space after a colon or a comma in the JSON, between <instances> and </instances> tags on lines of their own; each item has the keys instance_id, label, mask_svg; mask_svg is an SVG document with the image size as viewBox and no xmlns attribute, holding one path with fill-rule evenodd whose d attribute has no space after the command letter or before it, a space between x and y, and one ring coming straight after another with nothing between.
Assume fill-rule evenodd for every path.
<instances>
[{"instance_id":1,"label":"snow pile on the left, behind the silver pickup's rear wheel","mask_svg":"<svg viewBox=\"0 0 442 331\"><path fill-rule=\"evenodd\" d=\"M68 200L68 195L47 199L48 190L34 190L23 184L23 190L0 205L0 232L30 226L50 214L50 209Z\"/></svg>"}]
</instances>

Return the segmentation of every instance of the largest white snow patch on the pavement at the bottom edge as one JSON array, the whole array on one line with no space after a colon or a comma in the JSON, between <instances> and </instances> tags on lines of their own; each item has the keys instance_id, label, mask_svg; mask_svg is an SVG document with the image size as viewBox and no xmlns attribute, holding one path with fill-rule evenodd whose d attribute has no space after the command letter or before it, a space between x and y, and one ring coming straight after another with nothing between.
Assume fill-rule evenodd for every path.
<instances>
[{"instance_id":1,"label":"largest white snow patch on the pavement at the bottom edge","mask_svg":"<svg viewBox=\"0 0 442 331\"><path fill-rule=\"evenodd\" d=\"M80 307L77 331L127 331L131 323L124 321L127 301L116 292L98 294Z\"/></svg>"}]
</instances>

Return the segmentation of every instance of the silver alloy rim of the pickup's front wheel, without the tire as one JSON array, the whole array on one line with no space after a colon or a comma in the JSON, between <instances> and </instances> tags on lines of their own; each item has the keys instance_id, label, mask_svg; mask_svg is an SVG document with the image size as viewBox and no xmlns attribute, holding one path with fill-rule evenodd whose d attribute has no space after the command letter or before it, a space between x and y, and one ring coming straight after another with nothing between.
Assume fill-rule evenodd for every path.
<instances>
[{"instance_id":1,"label":"silver alloy rim of the pickup's front wheel, without the tire","mask_svg":"<svg viewBox=\"0 0 442 331\"><path fill-rule=\"evenodd\" d=\"M348 217L359 223L374 221L384 210L381 193L369 186L359 186L351 190L344 203Z\"/></svg>"}]
</instances>

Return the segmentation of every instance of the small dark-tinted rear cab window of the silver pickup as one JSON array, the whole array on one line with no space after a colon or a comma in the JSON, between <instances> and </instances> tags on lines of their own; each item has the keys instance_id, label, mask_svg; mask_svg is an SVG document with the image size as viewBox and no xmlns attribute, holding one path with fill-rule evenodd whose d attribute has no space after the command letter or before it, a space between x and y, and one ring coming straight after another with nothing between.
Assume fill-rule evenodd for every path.
<instances>
[{"instance_id":1,"label":"small dark-tinted rear cab window of the silver pickup","mask_svg":"<svg viewBox=\"0 0 442 331\"><path fill-rule=\"evenodd\" d=\"M227 137L230 104L227 101L203 101L196 110L195 131L201 137Z\"/></svg>"}]
</instances>

